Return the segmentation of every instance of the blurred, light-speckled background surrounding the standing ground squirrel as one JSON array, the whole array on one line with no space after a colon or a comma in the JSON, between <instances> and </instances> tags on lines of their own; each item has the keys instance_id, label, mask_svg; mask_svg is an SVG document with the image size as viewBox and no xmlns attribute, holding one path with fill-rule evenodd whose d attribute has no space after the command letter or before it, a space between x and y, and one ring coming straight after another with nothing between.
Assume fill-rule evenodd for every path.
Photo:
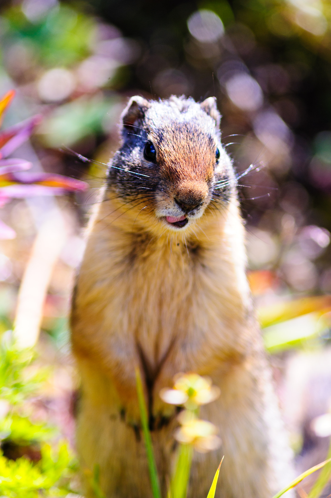
<instances>
[{"instance_id":1,"label":"blurred, light-speckled background surrounding the standing ground squirrel","mask_svg":"<svg viewBox=\"0 0 331 498\"><path fill-rule=\"evenodd\" d=\"M331 435L330 1L2 0L0 94L11 88L2 128L43 116L15 156L90 185L0 212L17 234L0 241L0 331L16 316L36 340L41 325L37 365L52 372L30 416L73 442L70 293L128 98L216 96L298 470L322 461Z\"/></svg>"}]
</instances>

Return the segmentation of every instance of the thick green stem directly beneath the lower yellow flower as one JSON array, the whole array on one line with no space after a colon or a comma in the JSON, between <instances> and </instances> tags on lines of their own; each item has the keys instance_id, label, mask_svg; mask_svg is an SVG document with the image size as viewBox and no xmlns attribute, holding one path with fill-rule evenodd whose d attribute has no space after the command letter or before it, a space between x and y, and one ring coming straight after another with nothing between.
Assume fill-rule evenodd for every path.
<instances>
[{"instance_id":1,"label":"thick green stem directly beneath the lower yellow flower","mask_svg":"<svg viewBox=\"0 0 331 498\"><path fill-rule=\"evenodd\" d=\"M179 446L175 471L171 480L171 497L186 498L187 484L190 477L193 447L189 444Z\"/></svg>"}]
</instances>

